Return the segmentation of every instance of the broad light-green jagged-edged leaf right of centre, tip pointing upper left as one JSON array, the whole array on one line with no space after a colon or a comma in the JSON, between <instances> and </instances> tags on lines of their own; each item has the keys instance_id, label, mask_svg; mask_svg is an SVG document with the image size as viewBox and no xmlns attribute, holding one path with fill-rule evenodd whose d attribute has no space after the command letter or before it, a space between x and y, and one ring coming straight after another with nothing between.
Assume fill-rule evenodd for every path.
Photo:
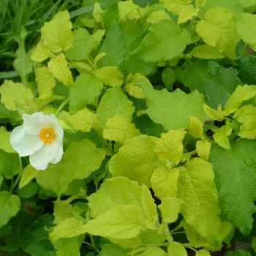
<instances>
[{"instance_id":1,"label":"broad light-green jagged-edged leaf right of centre, tip pointing upper left","mask_svg":"<svg viewBox=\"0 0 256 256\"><path fill-rule=\"evenodd\" d=\"M143 84L142 87L148 116L157 124L162 124L167 131L187 127L190 116L196 116L202 123L208 119L203 111L203 95L198 91L185 94L177 89L170 93L166 89L157 91Z\"/></svg>"}]
</instances>

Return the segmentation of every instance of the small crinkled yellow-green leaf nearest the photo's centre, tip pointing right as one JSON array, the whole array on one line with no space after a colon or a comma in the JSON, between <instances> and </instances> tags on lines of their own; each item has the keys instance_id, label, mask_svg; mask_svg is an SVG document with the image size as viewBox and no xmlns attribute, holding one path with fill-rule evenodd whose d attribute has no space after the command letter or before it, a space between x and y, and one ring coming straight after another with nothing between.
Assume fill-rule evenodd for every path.
<instances>
[{"instance_id":1,"label":"small crinkled yellow-green leaf nearest the photo's centre, tip pointing right","mask_svg":"<svg viewBox=\"0 0 256 256\"><path fill-rule=\"evenodd\" d=\"M126 140L140 135L140 131L131 124L128 118L115 115L109 118L105 129L102 132L106 140L115 140L118 143L124 143Z\"/></svg>"}]
</instances>

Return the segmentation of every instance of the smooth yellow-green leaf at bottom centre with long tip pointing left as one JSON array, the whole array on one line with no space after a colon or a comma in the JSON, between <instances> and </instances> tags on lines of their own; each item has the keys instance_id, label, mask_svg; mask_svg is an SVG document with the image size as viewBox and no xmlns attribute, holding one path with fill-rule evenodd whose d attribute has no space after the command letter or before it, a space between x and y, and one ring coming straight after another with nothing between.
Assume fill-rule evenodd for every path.
<instances>
[{"instance_id":1,"label":"smooth yellow-green leaf at bottom centre with long tip pointing left","mask_svg":"<svg viewBox=\"0 0 256 256\"><path fill-rule=\"evenodd\" d=\"M142 230L144 222L143 211L138 206L115 206L96 219L91 219L81 228L81 233L106 238L135 238Z\"/></svg>"}]
</instances>

